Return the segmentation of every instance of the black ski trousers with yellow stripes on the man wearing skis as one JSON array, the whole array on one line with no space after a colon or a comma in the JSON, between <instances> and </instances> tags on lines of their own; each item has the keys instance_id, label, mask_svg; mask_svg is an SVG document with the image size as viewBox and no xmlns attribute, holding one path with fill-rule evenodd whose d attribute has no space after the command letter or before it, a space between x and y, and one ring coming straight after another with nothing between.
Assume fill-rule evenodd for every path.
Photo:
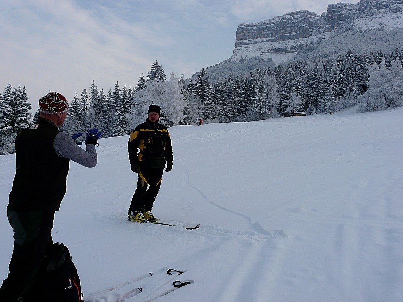
<instances>
[{"instance_id":1,"label":"black ski trousers with yellow stripes on the man wearing skis","mask_svg":"<svg viewBox=\"0 0 403 302\"><path fill-rule=\"evenodd\" d=\"M164 169L151 168L140 164L140 173L137 180L137 188L131 199L130 211L151 211L155 198L161 187L162 173ZM147 189L148 188L148 189Z\"/></svg>"}]
</instances>

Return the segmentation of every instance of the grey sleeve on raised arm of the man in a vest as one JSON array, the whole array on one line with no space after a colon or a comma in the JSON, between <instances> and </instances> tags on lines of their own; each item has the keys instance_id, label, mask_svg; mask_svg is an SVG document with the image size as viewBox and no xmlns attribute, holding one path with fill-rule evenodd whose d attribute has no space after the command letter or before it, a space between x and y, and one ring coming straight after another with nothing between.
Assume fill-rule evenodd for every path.
<instances>
[{"instance_id":1,"label":"grey sleeve on raised arm of the man in a vest","mask_svg":"<svg viewBox=\"0 0 403 302\"><path fill-rule=\"evenodd\" d=\"M86 150L83 150L76 144L72 137L65 132L60 132L56 135L53 141L53 147L58 155L71 159L84 167L92 168L97 164L95 146L93 144L87 144Z\"/></svg>"}]
</instances>

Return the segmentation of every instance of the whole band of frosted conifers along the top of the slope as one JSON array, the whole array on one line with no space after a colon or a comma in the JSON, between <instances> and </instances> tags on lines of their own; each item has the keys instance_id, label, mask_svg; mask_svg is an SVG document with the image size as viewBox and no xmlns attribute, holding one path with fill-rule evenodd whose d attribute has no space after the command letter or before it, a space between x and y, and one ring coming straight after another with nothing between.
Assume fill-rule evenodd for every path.
<instances>
[{"instance_id":1,"label":"whole band of frosted conifers along the top of the slope","mask_svg":"<svg viewBox=\"0 0 403 302\"><path fill-rule=\"evenodd\" d=\"M161 122L168 127L203 122L247 122L288 117L296 111L328 113L360 102L362 111L403 105L403 50L353 53L315 61L292 61L275 67L232 73L209 80L201 69L192 80L170 74L155 61L135 87L104 92L92 81L76 92L63 130L85 132L97 127L103 137L129 134L144 121L151 104L161 106ZM236 73L236 72L234 72ZM14 152L14 137L31 123L25 87L10 84L0 93L0 154ZM35 121L39 111L34 114Z\"/></svg>"}]
</instances>

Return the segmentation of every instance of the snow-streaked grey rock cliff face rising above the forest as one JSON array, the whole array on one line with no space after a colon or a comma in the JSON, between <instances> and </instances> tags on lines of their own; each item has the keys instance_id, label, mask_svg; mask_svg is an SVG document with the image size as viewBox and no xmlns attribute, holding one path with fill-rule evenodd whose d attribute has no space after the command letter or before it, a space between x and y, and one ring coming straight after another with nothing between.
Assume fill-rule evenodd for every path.
<instances>
[{"instance_id":1,"label":"snow-streaked grey rock cliff face rising above the forest","mask_svg":"<svg viewBox=\"0 0 403 302\"><path fill-rule=\"evenodd\" d=\"M403 0L361 0L330 4L321 16L297 11L258 23L240 24L231 59L260 56L280 63L315 41L353 31L403 28Z\"/></svg>"}]
</instances>

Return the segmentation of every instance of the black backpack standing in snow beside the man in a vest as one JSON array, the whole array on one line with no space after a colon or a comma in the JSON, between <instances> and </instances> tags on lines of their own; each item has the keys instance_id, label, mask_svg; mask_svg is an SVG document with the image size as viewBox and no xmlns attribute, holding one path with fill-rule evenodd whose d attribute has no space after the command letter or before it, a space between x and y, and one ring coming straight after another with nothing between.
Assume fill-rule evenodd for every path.
<instances>
[{"instance_id":1,"label":"black backpack standing in snow beside the man in a vest","mask_svg":"<svg viewBox=\"0 0 403 302\"><path fill-rule=\"evenodd\" d=\"M46 251L35 283L23 296L24 302L82 302L80 278L68 248L54 243Z\"/></svg>"}]
</instances>

